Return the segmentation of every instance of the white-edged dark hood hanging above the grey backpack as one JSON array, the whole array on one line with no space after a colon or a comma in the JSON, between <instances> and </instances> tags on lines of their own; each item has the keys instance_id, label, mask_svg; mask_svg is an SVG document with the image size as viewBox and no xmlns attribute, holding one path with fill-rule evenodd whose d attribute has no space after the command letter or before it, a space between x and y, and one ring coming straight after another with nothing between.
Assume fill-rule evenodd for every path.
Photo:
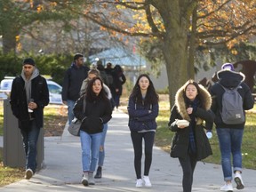
<instances>
[{"instance_id":1,"label":"white-edged dark hood hanging above the grey backpack","mask_svg":"<svg viewBox=\"0 0 256 192\"><path fill-rule=\"evenodd\" d=\"M231 71L231 70L220 70L217 72L217 78L220 84L225 87L236 87L241 82L244 82L245 76L241 72Z\"/></svg>"}]
</instances>

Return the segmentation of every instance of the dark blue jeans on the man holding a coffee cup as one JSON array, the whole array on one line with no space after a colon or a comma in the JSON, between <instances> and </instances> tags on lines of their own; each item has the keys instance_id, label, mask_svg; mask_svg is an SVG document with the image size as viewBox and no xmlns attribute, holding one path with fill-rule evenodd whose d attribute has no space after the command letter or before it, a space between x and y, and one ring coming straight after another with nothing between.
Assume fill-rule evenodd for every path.
<instances>
[{"instance_id":1,"label":"dark blue jeans on the man holding a coffee cup","mask_svg":"<svg viewBox=\"0 0 256 192\"><path fill-rule=\"evenodd\" d=\"M23 147L26 154L26 169L36 172L36 144L40 133L40 128L36 127L36 120L32 120L31 130L20 130L23 140Z\"/></svg>"}]
</instances>

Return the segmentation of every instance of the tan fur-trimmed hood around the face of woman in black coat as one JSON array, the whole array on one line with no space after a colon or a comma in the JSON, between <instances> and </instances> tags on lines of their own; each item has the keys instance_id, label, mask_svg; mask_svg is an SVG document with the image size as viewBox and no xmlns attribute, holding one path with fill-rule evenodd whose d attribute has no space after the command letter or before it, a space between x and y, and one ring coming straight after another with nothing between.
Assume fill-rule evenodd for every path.
<instances>
[{"instance_id":1,"label":"tan fur-trimmed hood around the face of woman in black coat","mask_svg":"<svg viewBox=\"0 0 256 192\"><path fill-rule=\"evenodd\" d=\"M202 107L205 110L209 110L211 108L212 105L212 97L211 94L204 88L203 85L198 84L199 85L199 94L202 95L202 98L204 98L204 100L201 100L202 103ZM188 116L187 113L187 108L186 108L186 104L185 104L185 100L184 100L184 90L185 90L186 85L183 85L182 87L180 87L180 89L178 90L178 92L175 95L175 105L177 106L178 112L180 113L180 116L182 116L183 119L186 119L188 121L190 121L190 117ZM201 121L202 122L202 121Z\"/></svg>"}]
</instances>

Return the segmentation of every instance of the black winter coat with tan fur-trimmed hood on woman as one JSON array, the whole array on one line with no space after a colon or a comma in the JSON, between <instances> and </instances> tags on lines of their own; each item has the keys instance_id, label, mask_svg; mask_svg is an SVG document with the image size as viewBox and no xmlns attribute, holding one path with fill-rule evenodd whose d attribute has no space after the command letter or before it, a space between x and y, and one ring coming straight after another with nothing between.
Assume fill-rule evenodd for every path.
<instances>
[{"instance_id":1,"label":"black winter coat with tan fur-trimmed hood on woman","mask_svg":"<svg viewBox=\"0 0 256 192\"><path fill-rule=\"evenodd\" d=\"M207 90L199 84L200 90L198 94L202 94L204 100L201 100L202 108L197 107L196 111L193 110L194 116L196 116L196 127L195 127L195 140L196 140L196 159L202 160L207 156L212 155L212 148L209 140L204 132L203 122L205 121L206 129L210 129L208 124L213 122L214 114L210 110L212 99L211 95ZM175 132L172 138L171 156L186 158L188 156L188 145L189 145L189 127L180 129L176 124L176 119L185 119L188 122L191 121L188 116L184 91L185 85L180 87L175 96L175 103L172 107L169 127L172 132Z\"/></svg>"}]
</instances>

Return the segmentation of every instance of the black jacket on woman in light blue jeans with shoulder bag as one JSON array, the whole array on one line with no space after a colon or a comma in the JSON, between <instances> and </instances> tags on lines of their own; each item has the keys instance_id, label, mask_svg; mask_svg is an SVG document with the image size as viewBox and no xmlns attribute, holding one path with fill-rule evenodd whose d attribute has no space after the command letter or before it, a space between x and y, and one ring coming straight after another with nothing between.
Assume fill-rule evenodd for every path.
<instances>
[{"instance_id":1,"label":"black jacket on woman in light blue jeans with shoulder bag","mask_svg":"<svg viewBox=\"0 0 256 192\"><path fill-rule=\"evenodd\" d=\"M81 130L90 134L102 132L103 124L107 124L112 118L112 107L109 100L85 101L85 112L83 111L84 96L76 101L73 109L74 116L80 121Z\"/></svg>"}]
</instances>

